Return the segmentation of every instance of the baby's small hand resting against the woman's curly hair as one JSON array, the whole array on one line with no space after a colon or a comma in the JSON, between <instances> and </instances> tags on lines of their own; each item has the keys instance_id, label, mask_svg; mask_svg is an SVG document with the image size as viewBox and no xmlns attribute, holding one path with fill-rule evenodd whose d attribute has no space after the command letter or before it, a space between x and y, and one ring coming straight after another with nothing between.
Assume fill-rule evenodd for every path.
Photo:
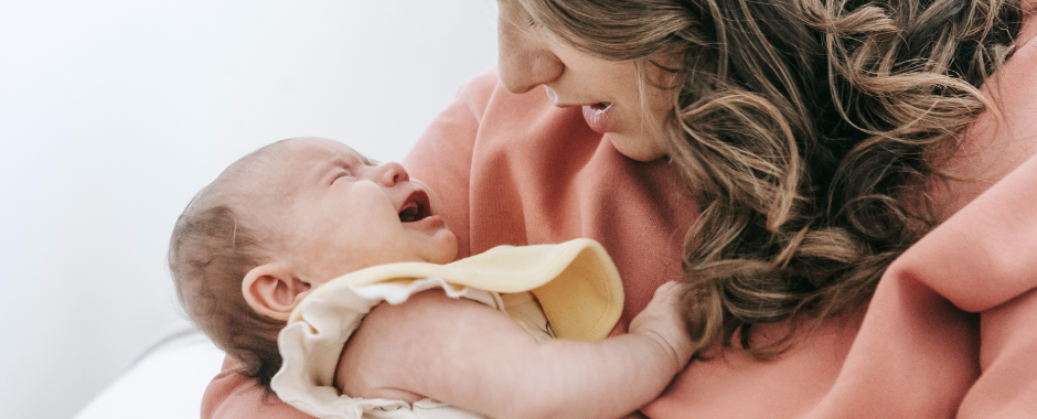
<instances>
[{"instance_id":1,"label":"baby's small hand resting against the woman's curly hair","mask_svg":"<svg viewBox=\"0 0 1037 419\"><path fill-rule=\"evenodd\" d=\"M684 329L681 311L681 282L670 281L655 290L655 296L640 314L630 321L630 333L645 335L655 340L671 352L678 370L691 361L694 353L692 340Z\"/></svg>"}]
</instances>

